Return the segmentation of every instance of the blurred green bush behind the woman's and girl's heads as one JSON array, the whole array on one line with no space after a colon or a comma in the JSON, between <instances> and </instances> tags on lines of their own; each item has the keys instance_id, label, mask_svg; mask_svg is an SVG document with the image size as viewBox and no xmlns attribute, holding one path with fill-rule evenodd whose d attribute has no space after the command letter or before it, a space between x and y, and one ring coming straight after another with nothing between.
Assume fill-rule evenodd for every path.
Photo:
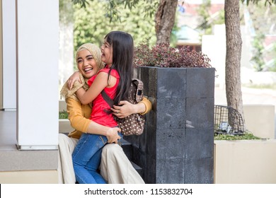
<instances>
[{"instance_id":1,"label":"blurred green bush behind the woman's and girl's heads","mask_svg":"<svg viewBox=\"0 0 276 198\"><path fill-rule=\"evenodd\" d=\"M86 5L86 8L79 4L74 5L74 47L78 47L85 42L93 42L100 46L103 37L111 30L122 30L130 33L134 39L134 45L139 42L149 40L151 44L156 42L154 30L154 18L150 15L144 15L142 10L150 7L156 1L136 4L135 7L126 7L123 4L116 4L120 13L120 21L111 21L106 15L105 1L93 1L93 4Z\"/></svg>"}]
</instances>

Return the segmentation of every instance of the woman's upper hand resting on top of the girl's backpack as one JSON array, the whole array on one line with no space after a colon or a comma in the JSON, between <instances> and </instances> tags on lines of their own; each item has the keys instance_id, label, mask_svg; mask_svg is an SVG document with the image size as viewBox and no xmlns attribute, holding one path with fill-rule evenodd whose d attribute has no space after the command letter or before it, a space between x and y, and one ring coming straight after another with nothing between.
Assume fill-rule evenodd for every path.
<instances>
[{"instance_id":1,"label":"woman's upper hand resting on top of the girl's backpack","mask_svg":"<svg viewBox=\"0 0 276 198\"><path fill-rule=\"evenodd\" d=\"M127 102L127 100L120 101L119 105L120 106L113 105L113 108L111 108L113 114L119 118L124 118L136 113L136 106L130 102Z\"/></svg>"}]
</instances>

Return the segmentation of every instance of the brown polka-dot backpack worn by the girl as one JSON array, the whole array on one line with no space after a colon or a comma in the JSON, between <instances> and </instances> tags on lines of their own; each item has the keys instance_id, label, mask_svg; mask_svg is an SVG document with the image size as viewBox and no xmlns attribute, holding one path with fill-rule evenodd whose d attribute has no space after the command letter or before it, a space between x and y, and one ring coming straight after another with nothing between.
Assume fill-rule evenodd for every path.
<instances>
[{"instance_id":1,"label":"brown polka-dot backpack worn by the girl","mask_svg":"<svg viewBox=\"0 0 276 198\"><path fill-rule=\"evenodd\" d=\"M127 101L132 104L137 104L143 100L144 84L137 78L133 78L130 85L130 96L127 98ZM103 99L113 107L114 101L105 93L103 90L101 92ZM144 132L144 115L139 113L129 115L125 118L118 118L115 116L115 120L117 121L118 127L122 129L122 134L125 136L130 135L141 135Z\"/></svg>"}]
</instances>

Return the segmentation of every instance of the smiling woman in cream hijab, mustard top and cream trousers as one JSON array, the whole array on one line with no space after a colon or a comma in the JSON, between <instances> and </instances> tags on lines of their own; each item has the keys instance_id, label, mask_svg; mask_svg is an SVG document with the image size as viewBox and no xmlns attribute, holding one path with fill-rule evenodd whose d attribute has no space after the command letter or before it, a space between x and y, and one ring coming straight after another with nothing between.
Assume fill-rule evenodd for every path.
<instances>
[{"instance_id":1,"label":"smiling woman in cream hijab, mustard top and cream trousers","mask_svg":"<svg viewBox=\"0 0 276 198\"><path fill-rule=\"evenodd\" d=\"M91 106L81 104L76 97L75 92L80 87L87 89L88 79L97 74L104 66L100 59L101 52L99 47L91 43L81 45L76 52L76 62L79 61L78 54L81 50L88 50L90 52L91 56L86 57L86 59L89 59L92 64L85 64L81 68L78 68L81 82L75 81L74 85L69 89L67 85L70 83L70 80L68 80L64 83L61 91L61 95L67 103L67 112L69 113L71 126L75 130L69 133L68 136L59 134L59 183L76 182L71 153L74 151L74 147L82 133L107 136L108 143L117 143L117 139L120 139L117 135L117 132L120 131L119 128L105 127L89 120ZM115 106L112 109L114 112L120 110L120 115L118 115L120 118L127 117L133 113L146 114L151 110L151 103L146 98L137 105L133 105L127 101L121 101L120 105L122 106ZM100 174L108 183L144 183L142 177L133 168L118 144L108 144L103 148Z\"/></svg>"}]
</instances>

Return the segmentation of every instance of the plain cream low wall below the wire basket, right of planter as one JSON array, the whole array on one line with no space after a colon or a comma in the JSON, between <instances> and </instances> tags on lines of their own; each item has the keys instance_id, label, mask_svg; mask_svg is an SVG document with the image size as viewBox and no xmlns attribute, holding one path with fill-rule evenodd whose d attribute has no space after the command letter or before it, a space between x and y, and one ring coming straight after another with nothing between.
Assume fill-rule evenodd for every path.
<instances>
[{"instance_id":1,"label":"plain cream low wall below the wire basket, right of planter","mask_svg":"<svg viewBox=\"0 0 276 198\"><path fill-rule=\"evenodd\" d=\"M275 184L276 140L214 141L214 183Z\"/></svg>"}]
</instances>

